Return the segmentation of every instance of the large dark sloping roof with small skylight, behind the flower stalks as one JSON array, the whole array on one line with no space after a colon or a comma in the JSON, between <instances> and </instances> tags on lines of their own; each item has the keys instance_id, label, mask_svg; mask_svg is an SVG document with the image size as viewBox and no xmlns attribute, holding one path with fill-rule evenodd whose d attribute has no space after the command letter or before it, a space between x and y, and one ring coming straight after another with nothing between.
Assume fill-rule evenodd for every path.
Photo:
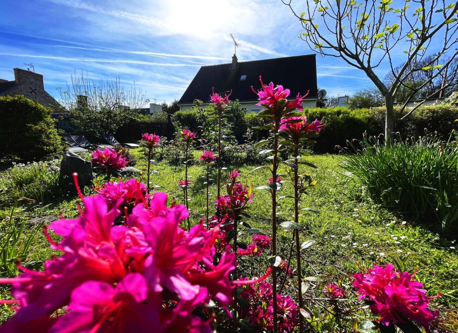
<instances>
[{"instance_id":1,"label":"large dark sloping roof with small skylight, behind the flower stalks","mask_svg":"<svg viewBox=\"0 0 458 333\"><path fill-rule=\"evenodd\" d=\"M251 91L251 86L255 90L261 88L259 75L262 75L265 84L272 81L275 85L288 88L291 91L289 96L295 97L298 92L302 95L310 90L307 98L317 97L315 54L242 61L237 64L236 70L231 70L231 66L232 64L202 66L179 103L193 103L194 99L207 103L210 101L212 87L217 93L232 89L231 100L255 101L257 97ZM241 75L246 75L244 81L240 81Z\"/></svg>"}]
</instances>

